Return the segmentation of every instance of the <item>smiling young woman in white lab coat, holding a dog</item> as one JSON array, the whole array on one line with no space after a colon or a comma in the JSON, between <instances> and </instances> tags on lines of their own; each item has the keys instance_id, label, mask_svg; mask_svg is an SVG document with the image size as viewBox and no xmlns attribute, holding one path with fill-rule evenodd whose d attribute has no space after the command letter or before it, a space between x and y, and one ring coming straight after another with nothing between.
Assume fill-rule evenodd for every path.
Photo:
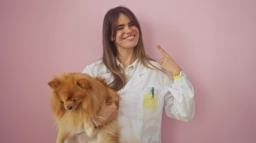
<instances>
[{"instance_id":1,"label":"smiling young woman in white lab coat, holding a dog","mask_svg":"<svg viewBox=\"0 0 256 143\"><path fill-rule=\"evenodd\" d=\"M103 77L121 96L118 123L120 142L161 142L162 110L173 119L188 122L194 117L194 90L185 73L161 46L161 64L144 51L140 24L126 7L107 12L103 23L103 58L83 70ZM101 113L116 116L115 104Z\"/></svg>"}]
</instances>

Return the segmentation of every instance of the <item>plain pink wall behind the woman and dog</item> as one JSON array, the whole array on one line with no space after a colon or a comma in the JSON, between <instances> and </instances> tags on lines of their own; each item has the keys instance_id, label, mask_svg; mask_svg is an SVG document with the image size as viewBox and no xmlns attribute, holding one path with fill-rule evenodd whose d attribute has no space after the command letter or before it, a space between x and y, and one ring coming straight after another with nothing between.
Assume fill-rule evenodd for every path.
<instances>
[{"instance_id":1,"label":"plain pink wall behind the woman and dog","mask_svg":"<svg viewBox=\"0 0 256 143\"><path fill-rule=\"evenodd\" d=\"M140 21L150 57L161 44L195 89L192 122L162 120L162 142L256 141L256 1L0 1L0 142L54 142L52 76L102 56L110 8Z\"/></svg>"}]
</instances>

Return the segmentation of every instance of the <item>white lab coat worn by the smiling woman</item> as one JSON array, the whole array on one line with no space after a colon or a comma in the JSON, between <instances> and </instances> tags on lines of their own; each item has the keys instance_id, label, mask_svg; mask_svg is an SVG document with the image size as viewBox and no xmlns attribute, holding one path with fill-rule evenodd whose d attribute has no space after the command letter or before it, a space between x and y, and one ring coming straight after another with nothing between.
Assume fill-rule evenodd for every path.
<instances>
[{"instance_id":1,"label":"white lab coat worn by the smiling woman","mask_svg":"<svg viewBox=\"0 0 256 143\"><path fill-rule=\"evenodd\" d=\"M159 63L152 61L156 67ZM112 74L102 60L89 64L83 70L92 77L113 81ZM155 89L152 98L150 91ZM173 119L188 122L194 117L194 90L186 76L172 80L159 70L148 69L140 62L127 85L118 94L118 123L121 125L120 142L161 142L162 110Z\"/></svg>"}]
</instances>

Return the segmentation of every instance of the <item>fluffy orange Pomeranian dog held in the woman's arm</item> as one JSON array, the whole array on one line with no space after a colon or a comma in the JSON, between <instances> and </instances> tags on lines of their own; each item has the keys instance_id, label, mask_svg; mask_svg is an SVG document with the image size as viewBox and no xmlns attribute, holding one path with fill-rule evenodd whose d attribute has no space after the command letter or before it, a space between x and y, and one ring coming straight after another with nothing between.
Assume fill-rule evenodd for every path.
<instances>
[{"instance_id":1,"label":"fluffy orange Pomeranian dog held in the woman's arm","mask_svg":"<svg viewBox=\"0 0 256 143\"><path fill-rule=\"evenodd\" d=\"M118 142L119 126L116 121L97 127L101 105L110 105L120 99L104 79L83 73L66 73L48 82L52 88L52 110L58 128L56 143L64 143L85 128L88 142Z\"/></svg>"}]
</instances>

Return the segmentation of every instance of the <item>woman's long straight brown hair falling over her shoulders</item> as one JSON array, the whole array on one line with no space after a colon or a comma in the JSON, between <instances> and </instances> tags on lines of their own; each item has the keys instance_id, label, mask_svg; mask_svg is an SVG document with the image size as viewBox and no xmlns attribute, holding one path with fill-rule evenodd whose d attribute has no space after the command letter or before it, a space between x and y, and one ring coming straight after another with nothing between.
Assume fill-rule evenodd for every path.
<instances>
[{"instance_id":1,"label":"woman's long straight brown hair falling over her shoulders","mask_svg":"<svg viewBox=\"0 0 256 143\"><path fill-rule=\"evenodd\" d=\"M114 41L111 41L110 38L116 37L116 20L118 19L119 14L126 14L131 21L138 28L140 36L138 38L138 43L134 47L134 54L140 60L140 62L147 68L152 69L153 66L149 61L155 61L152 58L148 57L144 51L142 33L140 29L140 24L138 23L135 15L129 10L127 7L119 6L116 8L112 8L107 12L103 21L103 63L105 66L112 72L114 80L110 83L110 86L115 90L119 91L125 86L126 77L124 71L118 66L116 63L116 57L118 55L118 51L116 49L116 45ZM152 66L149 67L148 65Z\"/></svg>"}]
</instances>

